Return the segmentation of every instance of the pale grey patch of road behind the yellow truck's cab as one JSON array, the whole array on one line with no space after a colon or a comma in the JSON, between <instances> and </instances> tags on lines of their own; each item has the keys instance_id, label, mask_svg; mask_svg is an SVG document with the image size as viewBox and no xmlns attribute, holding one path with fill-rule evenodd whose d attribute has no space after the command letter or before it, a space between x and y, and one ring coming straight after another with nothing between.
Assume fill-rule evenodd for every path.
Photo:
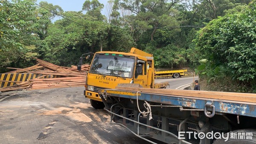
<instances>
[{"instance_id":1,"label":"pale grey patch of road behind the yellow truck's cab","mask_svg":"<svg viewBox=\"0 0 256 144\"><path fill-rule=\"evenodd\" d=\"M186 78L169 78L169 79L156 79L155 82L161 83L161 82L169 82L169 86L166 87L166 89L176 89L180 86L184 86L186 84L188 84L187 86L189 86L189 84L192 84L194 81L193 80L197 80L198 77L186 77ZM182 88L180 87L180 88ZM183 88L185 88L186 86L184 86Z\"/></svg>"}]
</instances>

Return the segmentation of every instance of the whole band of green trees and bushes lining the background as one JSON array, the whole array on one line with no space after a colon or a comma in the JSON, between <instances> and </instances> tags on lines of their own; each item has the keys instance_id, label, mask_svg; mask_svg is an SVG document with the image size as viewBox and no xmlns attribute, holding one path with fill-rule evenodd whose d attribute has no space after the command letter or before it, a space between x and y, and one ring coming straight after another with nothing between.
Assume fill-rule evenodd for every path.
<instances>
[{"instance_id":1,"label":"whole band of green trees and bushes lining the background","mask_svg":"<svg viewBox=\"0 0 256 144\"><path fill-rule=\"evenodd\" d=\"M190 67L202 84L256 92L255 20L255 0L85 0L77 12L0 0L0 73L34 57L71 66L86 52L136 47L157 68Z\"/></svg>"}]
</instances>

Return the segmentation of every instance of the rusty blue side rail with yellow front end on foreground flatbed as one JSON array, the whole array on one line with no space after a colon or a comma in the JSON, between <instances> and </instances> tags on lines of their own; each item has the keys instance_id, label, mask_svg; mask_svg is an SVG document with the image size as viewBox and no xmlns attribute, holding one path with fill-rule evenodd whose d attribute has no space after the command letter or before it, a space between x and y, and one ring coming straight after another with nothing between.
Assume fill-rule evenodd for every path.
<instances>
[{"instance_id":1,"label":"rusty blue side rail with yellow front end on foreground flatbed","mask_svg":"<svg viewBox=\"0 0 256 144\"><path fill-rule=\"evenodd\" d=\"M136 92L130 92L126 95L120 90L107 90L108 96L136 99ZM134 94L132 94L134 93ZM134 96L135 95L135 96ZM216 112L223 112L235 115L244 115L256 117L256 104L255 103L241 103L236 101L221 101L218 99L208 98L189 98L177 97L175 95L161 95L154 93L140 93L139 100L155 102L160 104L176 105L188 107L193 109L204 109L207 102L211 102L215 106Z\"/></svg>"}]
</instances>

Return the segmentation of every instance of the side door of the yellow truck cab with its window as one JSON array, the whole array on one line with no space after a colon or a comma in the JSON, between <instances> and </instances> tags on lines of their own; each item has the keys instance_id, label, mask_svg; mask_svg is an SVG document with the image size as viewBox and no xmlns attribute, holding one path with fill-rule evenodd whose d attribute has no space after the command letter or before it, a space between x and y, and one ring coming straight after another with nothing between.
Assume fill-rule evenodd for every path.
<instances>
[{"instance_id":1,"label":"side door of the yellow truck cab with its window","mask_svg":"<svg viewBox=\"0 0 256 144\"><path fill-rule=\"evenodd\" d=\"M139 71L141 67L141 71ZM144 60L137 60L137 65L134 73L134 84L140 84L144 88L147 87L147 62Z\"/></svg>"}]
</instances>

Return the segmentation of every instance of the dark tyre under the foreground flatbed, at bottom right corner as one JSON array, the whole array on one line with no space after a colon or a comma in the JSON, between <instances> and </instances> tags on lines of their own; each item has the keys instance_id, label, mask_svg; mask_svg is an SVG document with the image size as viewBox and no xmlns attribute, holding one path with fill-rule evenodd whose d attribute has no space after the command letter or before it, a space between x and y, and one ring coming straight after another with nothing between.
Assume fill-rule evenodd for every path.
<instances>
[{"instance_id":1,"label":"dark tyre under the foreground flatbed, at bottom right corner","mask_svg":"<svg viewBox=\"0 0 256 144\"><path fill-rule=\"evenodd\" d=\"M214 141L212 144L256 144L256 130L243 129L243 130L234 130L232 132L237 136L236 139L230 138L231 132L229 132L229 139L227 141L225 141L224 138L221 138ZM245 137L243 139L240 139L239 133L241 135L244 135ZM249 137L247 134L250 134L249 136L251 139L248 139ZM225 138L227 137L227 133L224 134L224 137Z\"/></svg>"}]
</instances>

